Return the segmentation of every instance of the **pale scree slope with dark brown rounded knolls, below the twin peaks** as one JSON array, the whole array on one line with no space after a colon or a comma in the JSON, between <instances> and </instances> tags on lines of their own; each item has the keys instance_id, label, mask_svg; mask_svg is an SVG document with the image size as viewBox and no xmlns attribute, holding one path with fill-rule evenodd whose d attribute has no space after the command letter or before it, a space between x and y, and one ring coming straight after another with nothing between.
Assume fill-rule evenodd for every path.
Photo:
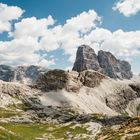
<instances>
[{"instance_id":1,"label":"pale scree slope with dark brown rounded knolls, below the twin peaks","mask_svg":"<svg viewBox=\"0 0 140 140\"><path fill-rule=\"evenodd\" d=\"M134 111L128 106L140 97L139 85L140 77L114 80L93 70L80 73L53 70L40 75L34 86L46 92L41 97L44 105L64 103L86 113L115 115Z\"/></svg>"}]
</instances>

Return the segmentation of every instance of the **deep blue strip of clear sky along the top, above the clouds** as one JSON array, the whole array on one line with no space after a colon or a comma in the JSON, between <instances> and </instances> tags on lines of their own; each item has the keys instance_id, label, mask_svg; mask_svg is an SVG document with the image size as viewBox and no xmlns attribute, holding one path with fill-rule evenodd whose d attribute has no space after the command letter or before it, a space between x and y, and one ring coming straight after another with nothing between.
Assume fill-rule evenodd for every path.
<instances>
[{"instance_id":1,"label":"deep blue strip of clear sky along the top, above the clouds","mask_svg":"<svg viewBox=\"0 0 140 140\"><path fill-rule=\"evenodd\" d=\"M44 18L52 15L61 24L83 11L94 9L103 17L104 28L111 31L140 29L140 14L127 18L112 10L118 0L0 0L0 2L25 9L24 17Z\"/></svg>"}]
</instances>

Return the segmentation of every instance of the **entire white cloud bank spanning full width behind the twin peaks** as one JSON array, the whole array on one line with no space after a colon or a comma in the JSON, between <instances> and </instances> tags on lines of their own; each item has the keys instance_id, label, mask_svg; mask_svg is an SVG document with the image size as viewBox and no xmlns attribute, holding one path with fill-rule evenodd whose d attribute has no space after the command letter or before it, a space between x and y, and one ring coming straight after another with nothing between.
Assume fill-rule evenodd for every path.
<instances>
[{"instance_id":1,"label":"entire white cloud bank spanning full width behind the twin peaks","mask_svg":"<svg viewBox=\"0 0 140 140\"><path fill-rule=\"evenodd\" d=\"M62 49L73 63L81 44L90 45L96 52L99 49L111 51L118 57L140 55L140 31L111 32L101 28L101 22L94 10L67 19L63 25L57 24L52 16L23 18L15 23L13 31L8 30L11 40L0 42L1 63L48 67L55 64L56 58L48 57L47 53L57 49ZM36 53L40 51L46 54Z\"/></svg>"}]
</instances>

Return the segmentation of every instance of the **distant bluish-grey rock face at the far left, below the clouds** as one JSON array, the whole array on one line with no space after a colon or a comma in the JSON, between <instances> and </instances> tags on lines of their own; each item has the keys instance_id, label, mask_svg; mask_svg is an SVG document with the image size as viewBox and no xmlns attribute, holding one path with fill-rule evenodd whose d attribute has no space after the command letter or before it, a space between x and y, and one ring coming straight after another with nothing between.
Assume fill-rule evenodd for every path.
<instances>
[{"instance_id":1,"label":"distant bluish-grey rock face at the far left, below the clouds","mask_svg":"<svg viewBox=\"0 0 140 140\"><path fill-rule=\"evenodd\" d=\"M41 72L45 71L47 70L33 65L17 67L0 65L0 80L29 84L34 82Z\"/></svg>"}]
</instances>

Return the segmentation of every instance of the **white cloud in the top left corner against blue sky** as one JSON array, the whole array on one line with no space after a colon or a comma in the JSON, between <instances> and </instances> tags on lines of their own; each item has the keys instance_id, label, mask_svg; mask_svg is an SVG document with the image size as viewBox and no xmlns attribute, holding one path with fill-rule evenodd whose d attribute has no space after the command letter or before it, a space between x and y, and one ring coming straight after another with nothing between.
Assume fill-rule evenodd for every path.
<instances>
[{"instance_id":1,"label":"white cloud in the top left corner against blue sky","mask_svg":"<svg viewBox=\"0 0 140 140\"><path fill-rule=\"evenodd\" d=\"M11 21L17 20L23 14L23 10L17 6L8 6L0 3L0 33L11 30Z\"/></svg>"}]
</instances>

